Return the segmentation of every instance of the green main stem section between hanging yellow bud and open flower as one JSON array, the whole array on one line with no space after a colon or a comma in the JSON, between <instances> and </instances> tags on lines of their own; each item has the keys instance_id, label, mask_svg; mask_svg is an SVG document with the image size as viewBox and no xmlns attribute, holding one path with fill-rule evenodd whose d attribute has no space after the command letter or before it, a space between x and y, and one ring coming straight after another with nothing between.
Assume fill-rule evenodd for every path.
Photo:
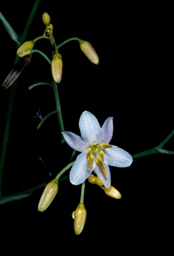
<instances>
[{"instance_id":1,"label":"green main stem section between hanging yellow bud and open flower","mask_svg":"<svg viewBox=\"0 0 174 256\"><path fill-rule=\"evenodd\" d=\"M55 101L56 101L56 110L57 110L58 121L59 121L59 125L60 125L60 131L62 133L64 131L64 123L63 123L63 119L62 119L62 111L61 111L61 107L60 107L60 100L59 100L59 97L58 97L57 84L56 84L55 81L53 81L52 85L53 85L54 97L55 97ZM64 143L63 135L62 135L62 143Z\"/></svg>"}]
</instances>

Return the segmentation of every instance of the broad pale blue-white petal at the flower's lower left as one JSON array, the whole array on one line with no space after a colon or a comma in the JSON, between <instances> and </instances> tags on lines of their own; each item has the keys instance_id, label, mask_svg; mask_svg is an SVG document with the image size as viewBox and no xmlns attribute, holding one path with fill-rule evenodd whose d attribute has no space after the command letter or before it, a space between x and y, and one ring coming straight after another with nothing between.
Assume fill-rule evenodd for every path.
<instances>
[{"instance_id":1,"label":"broad pale blue-white petal at the flower's lower left","mask_svg":"<svg viewBox=\"0 0 174 256\"><path fill-rule=\"evenodd\" d=\"M88 167L89 162L87 160L86 151L84 151L78 155L74 165L72 165L72 169L70 170L70 183L73 185L83 183L93 171L93 169L88 170Z\"/></svg>"}]
</instances>

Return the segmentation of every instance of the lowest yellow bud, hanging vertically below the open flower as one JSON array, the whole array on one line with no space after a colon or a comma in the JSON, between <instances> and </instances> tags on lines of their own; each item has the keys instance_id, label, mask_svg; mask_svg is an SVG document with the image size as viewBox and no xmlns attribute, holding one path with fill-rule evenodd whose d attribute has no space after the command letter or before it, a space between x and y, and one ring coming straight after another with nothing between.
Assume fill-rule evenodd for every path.
<instances>
[{"instance_id":1,"label":"lowest yellow bud, hanging vertically below the open flower","mask_svg":"<svg viewBox=\"0 0 174 256\"><path fill-rule=\"evenodd\" d=\"M72 218L74 219L74 232L76 235L80 235L84 229L86 221L86 209L84 203L79 203L76 211L73 211Z\"/></svg>"}]
</instances>

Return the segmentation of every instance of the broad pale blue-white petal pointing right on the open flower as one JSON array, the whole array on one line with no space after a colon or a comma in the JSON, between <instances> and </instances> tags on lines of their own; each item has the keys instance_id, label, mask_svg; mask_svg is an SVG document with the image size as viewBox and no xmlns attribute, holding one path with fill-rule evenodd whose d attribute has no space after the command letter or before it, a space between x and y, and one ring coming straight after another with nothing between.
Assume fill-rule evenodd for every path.
<instances>
[{"instance_id":1,"label":"broad pale blue-white petal pointing right on the open flower","mask_svg":"<svg viewBox=\"0 0 174 256\"><path fill-rule=\"evenodd\" d=\"M104 150L104 163L116 167L128 167L131 165L133 158L130 153L120 147L109 147Z\"/></svg>"}]
</instances>

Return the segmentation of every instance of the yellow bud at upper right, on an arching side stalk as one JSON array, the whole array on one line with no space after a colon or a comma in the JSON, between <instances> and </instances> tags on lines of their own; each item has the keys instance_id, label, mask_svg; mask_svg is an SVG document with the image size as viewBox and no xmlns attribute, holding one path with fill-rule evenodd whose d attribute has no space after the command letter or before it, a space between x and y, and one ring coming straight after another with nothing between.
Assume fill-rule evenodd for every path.
<instances>
[{"instance_id":1,"label":"yellow bud at upper right, on an arching side stalk","mask_svg":"<svg viewBox=\"0 0 174 256\"><path fill-rule=\"evenodd\" d=\"M80 43L80 49L86 55L86 57L88 57L88 59L92 63L98 65L99 64L99 58L98 58L98 55L97 55L96 51L92 47L92 45L89 42L82 41L82 40L79 43Z\"/></svg>"}]
</instances>

